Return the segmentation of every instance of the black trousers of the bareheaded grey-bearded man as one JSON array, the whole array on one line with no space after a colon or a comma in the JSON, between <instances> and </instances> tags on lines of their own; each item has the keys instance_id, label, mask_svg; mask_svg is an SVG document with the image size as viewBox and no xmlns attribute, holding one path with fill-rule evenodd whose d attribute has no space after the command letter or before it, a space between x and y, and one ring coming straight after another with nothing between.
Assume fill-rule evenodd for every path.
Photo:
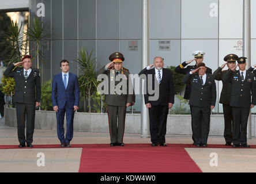
<instances>
[{"instance_id":1,"label":"black trousers of the bareheaded grey-bearded man","mask_svg":"<svg viewBox=\"0 0 256 184\"><path fill-rule=\"evenodd\" d=\"M152 143L165 143L167 115L167 105L152 105L149 108L149 129Z\"/></svg>"}]
</instances>

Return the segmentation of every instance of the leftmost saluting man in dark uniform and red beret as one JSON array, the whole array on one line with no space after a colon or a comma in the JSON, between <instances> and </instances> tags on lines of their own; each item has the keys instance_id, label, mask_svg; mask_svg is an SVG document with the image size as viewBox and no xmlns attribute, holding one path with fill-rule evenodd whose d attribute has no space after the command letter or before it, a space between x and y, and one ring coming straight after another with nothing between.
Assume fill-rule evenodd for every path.
<instances>
[{"instance_id":1,"label":"leftmost saluting man in dark uniform and red beret","mask_svg":"<svg viewBox=\"0 0 256 184\"><path fill-rule=\"evenodd\" d=\"M16 67L22 65L23 67ZM10 64L3 73L15 80L14 101L16 102L18 147L33 147L35 128L35 110L41 97L39 70L31 68L31 56L25 55L21 62ZM27 136L25 136L25 120L27 118ZM26 139L27 137L27 139Z\"/></svg>"}]
</instances>

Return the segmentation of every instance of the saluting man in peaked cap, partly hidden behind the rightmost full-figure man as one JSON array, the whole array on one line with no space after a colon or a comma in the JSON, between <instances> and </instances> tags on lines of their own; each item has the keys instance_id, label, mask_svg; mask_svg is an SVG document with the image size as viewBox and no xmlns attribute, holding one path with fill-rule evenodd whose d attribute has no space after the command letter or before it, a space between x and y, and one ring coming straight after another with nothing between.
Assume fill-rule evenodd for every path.
<instances>
[{"instance_id":1,"label":"saluting man in peaked cap, partly hidden behind the rightmost full-figure man","mask_svg":"<svg viewBox=\"0 0 256 184\"><path fill-rule=\"evenodd\" d=\"M222 81L223 83L220 95L220 104L223 104L224 138L226 142L225 145L231 145L232 143L232 109L229 105L231 95L231 83L223 82L223 76L230 70L230 68L234 68L236 66L236 60L238 60L237 55L235 55L234 53L228 54L224 57L224 61L227 63L223 64L221 67L217 68L217 70L213 72L214 79L217 81ZM222 70L225 65L228 66L228 70Z\"/></svg>"}]
</instances>

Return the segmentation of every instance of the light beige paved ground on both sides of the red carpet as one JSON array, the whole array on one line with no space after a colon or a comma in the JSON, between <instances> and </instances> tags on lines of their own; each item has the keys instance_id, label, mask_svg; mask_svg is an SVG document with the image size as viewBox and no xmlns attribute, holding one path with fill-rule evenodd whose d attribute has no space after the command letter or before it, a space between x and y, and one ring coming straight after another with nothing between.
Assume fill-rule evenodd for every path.
<instances>
[{"instance_id":1,"label":"light beige paved ground on both sides of the red carpet","mask_svg":"<svg viewBox=\"0 0 256 184\"><path fill-rule=\"evenodd\" d=\"M125 133L124 143L150 144L138 133ZM71 144L109 144L109 133L74 132ZM191 136L167 135L167 144L191 144ZM17 149L0 150L0 172L78 172L81 148L18 148L17 129L0 119L0 145L17 145ZM57 131L35 130L33 144L60 144ZM208 144L225 144L222 136L209 136ZM256 139L248 140L256 145ZM256 172L256 149L253 148L185 148L203 172ZM42 166L41 159L46 160ZM211 155L212 154L212 155ZM217 160L216 160L217 159ZM212 164L211 164L212 163ZM211 166L212 165L212 166ZM133 172L133 171L131 171Z\"/></svg>"}]
</instances>

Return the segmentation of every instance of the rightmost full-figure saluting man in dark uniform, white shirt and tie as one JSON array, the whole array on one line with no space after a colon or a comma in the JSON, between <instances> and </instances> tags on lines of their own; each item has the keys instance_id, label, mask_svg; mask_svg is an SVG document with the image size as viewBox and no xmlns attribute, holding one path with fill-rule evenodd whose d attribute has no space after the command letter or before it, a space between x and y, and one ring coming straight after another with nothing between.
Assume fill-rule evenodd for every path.
<instances>
[{"instance_id":1,"label":"rightmost full-figure saluting man in dark uniform, white shirt and tie","mask_svg":"<svg viewBox=\"0 0 256 184\"><path fill-rule=\"evenodd\" d=\"M246 70L246 57L238 58L238 65L231 68L224 76L223 82L231 83L230 106L232 108L232 143L233 147L250 147L247 145L247 121L250 108L256 105L255 77ZM239 70L235 70L236 67ZM252 100L251 100L252 97Z\"/></svg>"}]
</instances>

